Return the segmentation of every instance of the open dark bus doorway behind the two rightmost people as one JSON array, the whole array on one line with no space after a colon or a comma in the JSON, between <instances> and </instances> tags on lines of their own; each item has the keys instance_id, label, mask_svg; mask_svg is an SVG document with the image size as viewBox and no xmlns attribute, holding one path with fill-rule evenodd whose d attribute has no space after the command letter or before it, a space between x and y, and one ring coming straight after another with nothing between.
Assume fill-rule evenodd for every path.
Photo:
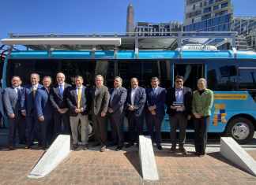
<instances>
[{"instance_id":1,"label":"open dark bus doorway behind the two rightmost people","mask_svg":"<svg viewBox=\"0 0 256 185\"><path fill-rule=\"evenodd\" d=\"M183 86L190 87L192 91L197 89L198 79L205 78L205 66L203 64L175 64L174 65L174 78L175 76L183 76ZM175 86L175 82L173 81ZM194 128L191 120L188 121L187 131Z\"/></svg>"}]
</instances>

